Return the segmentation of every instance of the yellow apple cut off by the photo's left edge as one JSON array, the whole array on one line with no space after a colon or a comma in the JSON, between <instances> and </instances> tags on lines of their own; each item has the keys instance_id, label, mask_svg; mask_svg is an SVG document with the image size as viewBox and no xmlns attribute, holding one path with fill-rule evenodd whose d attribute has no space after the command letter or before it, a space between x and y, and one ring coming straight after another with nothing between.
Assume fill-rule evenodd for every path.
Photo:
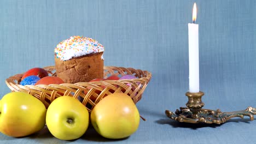
<instances>
[{"instance_id":1,"label":"yellow apple cut off by the photo's left edge","mask_svg":"<svg viewBox=\"0 0 256 144\"><path fill-rule=\"evenodd\" d=\"M11 92L0 101L1 133L21 137L44 128L46 109L33 95L24 92Z\"/></svg>"}]
</instances>

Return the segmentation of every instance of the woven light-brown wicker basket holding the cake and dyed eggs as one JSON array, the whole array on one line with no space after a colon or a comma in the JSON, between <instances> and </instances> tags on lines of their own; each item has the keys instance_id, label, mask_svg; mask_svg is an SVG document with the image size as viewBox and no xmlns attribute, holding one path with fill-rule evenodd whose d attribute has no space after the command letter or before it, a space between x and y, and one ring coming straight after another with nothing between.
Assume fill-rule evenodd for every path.
<instances>
[{"instance_id":1,"label":"woven light-brown wicker basket holding the cake and dyed eggs","mask_svg":"<svg viewBox=\"0 0 256 144\"><path fill-rule=\"evenodd\" d=\"M44 69L48 71L50 76L56 76L54 66L45 67ZM134 75L137 79L22 86L19 83L23 74L17 74L6 79L5 83L13 92L26 92L38 98L46 108L54 99L62 95L70 95L81 101L91 112L103 97L115 92L128 94L135 104L142 98L142 94L152 77L151 73L133 68L104 67L104 78L110 75L121 77L126 74Z\"/></svg>"}]
</instances>

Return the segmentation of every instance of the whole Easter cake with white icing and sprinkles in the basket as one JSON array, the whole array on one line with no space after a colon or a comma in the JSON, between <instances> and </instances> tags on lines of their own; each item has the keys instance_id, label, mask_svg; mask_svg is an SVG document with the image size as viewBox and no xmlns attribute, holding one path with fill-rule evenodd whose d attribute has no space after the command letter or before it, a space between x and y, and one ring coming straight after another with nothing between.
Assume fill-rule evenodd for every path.
<instances>
[{"instance_id":1,"label":"whole Easter cake with white icing and sprinkles in the basket","mask_svg":"<svg viewBox=\"0 0 256 144\"><path fill-rule=\"evenodd\" d=\"M57 76L65 83L103 78L103 51L97 40L83 36L61 41L54 50Z\"/></svg>"}]
</instances>

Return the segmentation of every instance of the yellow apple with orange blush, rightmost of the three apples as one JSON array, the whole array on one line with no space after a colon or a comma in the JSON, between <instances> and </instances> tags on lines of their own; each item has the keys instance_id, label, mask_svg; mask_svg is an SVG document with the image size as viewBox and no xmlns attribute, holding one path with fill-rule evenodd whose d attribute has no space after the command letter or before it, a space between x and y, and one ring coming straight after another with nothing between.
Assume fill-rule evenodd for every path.
<instances>
[{"instance_id":1,"label":"yellow apple with orange blush, rightmost of the three apples","mask_svg":"<svg viewBox=\"0 0 256 144\"><path fill-rule=\"evenodd\" d=\"M103 137L122 139L138 129L139 112L129 95L113 93L92 109L91 123Z\"/></svg>"}]
</instances>

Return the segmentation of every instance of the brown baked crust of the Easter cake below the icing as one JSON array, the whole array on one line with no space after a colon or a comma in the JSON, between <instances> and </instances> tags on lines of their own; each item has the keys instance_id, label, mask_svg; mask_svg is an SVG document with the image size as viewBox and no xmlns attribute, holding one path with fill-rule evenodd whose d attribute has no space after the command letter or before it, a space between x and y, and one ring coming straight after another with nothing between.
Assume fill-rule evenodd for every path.
<instances>
[{"instance_id":1,"label":"brown baked crust of the Easter cake below the icing","mask_svg":"<svg viewBox=\"0 0 256 144\"><path fill-rule=\"evenodd\" d=\"M103 78L103 52L91 53L62 61L55 56L56 74L65 83L88 82Z\"/></svg>"}]
</instances>

